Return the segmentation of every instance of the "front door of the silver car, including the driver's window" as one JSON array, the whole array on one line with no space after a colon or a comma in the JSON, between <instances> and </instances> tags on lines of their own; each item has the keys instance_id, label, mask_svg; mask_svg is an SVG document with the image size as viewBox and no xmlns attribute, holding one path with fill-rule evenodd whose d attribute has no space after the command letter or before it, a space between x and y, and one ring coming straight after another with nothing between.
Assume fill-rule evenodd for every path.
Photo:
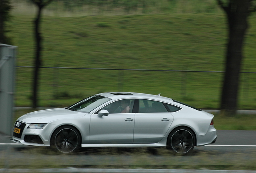
<instances>
[{"instance_id":1,"label":"front door of the silver car, including the driver's window","mask_svg":"<svg viewBox=\"0 0 256 173\"><path fill-rule=\"evenodd\" d=\"M129 104L125 108L122 103ZM132 113L134 99L115 101L103 107L109 115L98 117L97 112L91 115L90 144L131 144L135 114ZM129 109L129 110L128 110Z\"/></svg>"}]
</instances>

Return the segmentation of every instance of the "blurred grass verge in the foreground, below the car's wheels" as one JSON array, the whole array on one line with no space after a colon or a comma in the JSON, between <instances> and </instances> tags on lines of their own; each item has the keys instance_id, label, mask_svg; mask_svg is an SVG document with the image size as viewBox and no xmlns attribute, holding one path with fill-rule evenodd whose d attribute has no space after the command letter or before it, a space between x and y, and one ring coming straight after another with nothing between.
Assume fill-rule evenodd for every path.
<instances>
[{"instance_id":1,"label":"blurred grass verge in the foreground, below the car's wheels","mask_svg":"<svg viewBox=\"0 0 256 173\"><path fill-rule=\"evenodd\" d=\"M195 147L191 154L182 156L165 147L84 148L63 155L48 147L22 147L0 151L0 168L121 168L121 169L211 169L256 170L255 150L232 153L204 150ZM21 159L26 158L26 159ZM10 171L10 170L9 170ZM31 170L35 171L35 170ZM53 170L52 170L53 171Z\"/></svg>"}]
</instances>

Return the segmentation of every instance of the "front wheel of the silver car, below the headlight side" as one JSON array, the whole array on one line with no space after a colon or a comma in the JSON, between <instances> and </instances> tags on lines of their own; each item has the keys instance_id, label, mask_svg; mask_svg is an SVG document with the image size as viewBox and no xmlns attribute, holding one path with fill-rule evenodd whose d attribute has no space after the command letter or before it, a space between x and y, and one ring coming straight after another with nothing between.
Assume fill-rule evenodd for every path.
<instances>
[{"instance_id":1,"label":"front wheel of the silver car, below the headlight side","mask_svg":"<svg viewBox=\"0 0 256 173\"><path fill-rule=\"evenodd\" d=\"M62 153L71 153L81 144L80 133L71 126L62 126L54 131L51 145Z\"/></svg>"}]
</instances>

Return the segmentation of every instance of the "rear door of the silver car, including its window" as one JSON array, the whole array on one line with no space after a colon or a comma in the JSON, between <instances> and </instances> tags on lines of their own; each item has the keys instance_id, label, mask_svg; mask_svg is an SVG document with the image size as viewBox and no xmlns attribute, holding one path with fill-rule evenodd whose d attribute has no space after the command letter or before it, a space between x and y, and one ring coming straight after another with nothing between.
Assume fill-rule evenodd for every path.
<instances>
[{"instance_id":1,"label":"rear door of the silver car, including its window","mask_svg":"<svg viewBox=\"0 0 256 173\"><path fill-rule=\"evenodd\" d=\"M133 143L161 141L173 122L173 116L163 103L146 99L138 100L135 119Z\"/></svg>"}]
</instances>

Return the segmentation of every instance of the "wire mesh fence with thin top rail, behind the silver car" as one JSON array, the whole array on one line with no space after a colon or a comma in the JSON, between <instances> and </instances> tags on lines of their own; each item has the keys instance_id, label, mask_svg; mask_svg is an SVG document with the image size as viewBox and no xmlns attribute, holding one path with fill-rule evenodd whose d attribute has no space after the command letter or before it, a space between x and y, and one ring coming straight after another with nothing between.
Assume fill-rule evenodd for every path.
<instances>
[{"instance_id":1,"label":"wire mesh fence with thin top rail, behind the silver car","mask_svg":"<svg viewBox=\"0 0 256 173\"><path fill-rule=\"evenodd\" d=\"M96 93L128 91L179 99L199 108L218 108L223 71L41 67L41 104L60 107ZM18 105L29 104L33 66L17 66ZM239 104L256 99L256 72L241 72ZM22 105L21 104L21 105ZM45 105L46 104L46 105Z\"/></svg>"}]
</instances>

